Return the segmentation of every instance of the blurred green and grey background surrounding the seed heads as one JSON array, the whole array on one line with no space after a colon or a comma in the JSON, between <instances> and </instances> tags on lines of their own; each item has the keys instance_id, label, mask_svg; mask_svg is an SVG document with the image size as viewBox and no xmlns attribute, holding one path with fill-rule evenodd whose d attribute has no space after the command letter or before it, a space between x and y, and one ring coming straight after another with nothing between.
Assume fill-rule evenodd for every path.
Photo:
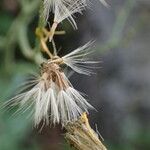
<instances>
[{"instance_id":1,"label":"blurred green and grey background surrounding the seed heads","mask_svg":"<svg viewBox=\"0 0 150 150\"><path fill-rule=\"evenodd\" d=\"M90 113L91 125L110 150L150 150L150 1L107 0L109 8L91 1L90 9L76 15L77 31L67 22L59 26L66 30L55 38L59 55L95 40L93 59L101 61L101 68L90 77L70 78L98 110ZM38 70L41 55L34 33L39 4L40 0L0 2L1 103ZM11 113L0 114L0 150L70 149L59 126L40 132L26 115Z\"/></svg>"}]
</instances>

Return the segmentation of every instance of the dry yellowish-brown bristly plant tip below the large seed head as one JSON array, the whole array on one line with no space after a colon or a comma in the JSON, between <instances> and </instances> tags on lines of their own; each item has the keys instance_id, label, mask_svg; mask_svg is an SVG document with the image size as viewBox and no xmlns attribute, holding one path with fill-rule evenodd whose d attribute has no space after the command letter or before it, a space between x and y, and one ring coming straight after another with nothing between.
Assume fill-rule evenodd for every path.
<instances>
[{"instance_id":1,"label":"dry yellowish-brown bristly plant tip below the large seed head","mask_svg":"<svg viewBox=\"0 0 150 150\"><path fill-rule=\"evenodd\" d=\"M68 123L65 128L65 138L76 150L107 150L90 127L86 113L76 122Z\"/></svg>"}]
</instances>

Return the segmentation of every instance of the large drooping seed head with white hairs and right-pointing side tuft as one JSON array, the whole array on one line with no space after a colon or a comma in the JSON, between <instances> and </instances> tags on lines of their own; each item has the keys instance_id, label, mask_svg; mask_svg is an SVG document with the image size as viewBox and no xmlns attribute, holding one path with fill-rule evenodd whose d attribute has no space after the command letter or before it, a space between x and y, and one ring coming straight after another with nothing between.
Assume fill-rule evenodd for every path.
<instances>
[{"instance_id":1,"label":"large drooping seed head with white hairs and right-pointing side tuft","mask_svg":"<svg viewBox=\"0 0 150 150\"><path fill-rule=\"evenodd\" d=\"M62 126L75 121L84 112L93 108L81 93L75 90L64 74L61 64L66 64L78 73L89 74L85 60L90 42L62 58L48 60L42 64L38 78L28 82L26 90L6 102L6 106L19 106L16 113L31 111L34 126L41 122L46 125L60 123ZM84 57L84 59L83 59Z\"/></svg>"}]
</instances>

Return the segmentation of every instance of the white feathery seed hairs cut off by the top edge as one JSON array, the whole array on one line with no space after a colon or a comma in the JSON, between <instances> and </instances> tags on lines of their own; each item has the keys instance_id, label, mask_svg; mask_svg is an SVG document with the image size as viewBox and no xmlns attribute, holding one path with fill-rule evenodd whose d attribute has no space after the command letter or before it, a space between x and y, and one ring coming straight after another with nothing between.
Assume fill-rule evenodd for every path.
<instances>
[{"instance_id":1,"label":"white feathery seed hairs cut off by the top edge","mask_svg":"<svg viewBox=\"0 0 150 150\"><path fill-rule=\"evenodd\" d=\"M44 0L44 17L47 20L49 12L52 11L54 22L60 23L67 18L73 27L77 28L72 15L81 13L86 6L86 0Z\"/></svg>"}]
</instances>

